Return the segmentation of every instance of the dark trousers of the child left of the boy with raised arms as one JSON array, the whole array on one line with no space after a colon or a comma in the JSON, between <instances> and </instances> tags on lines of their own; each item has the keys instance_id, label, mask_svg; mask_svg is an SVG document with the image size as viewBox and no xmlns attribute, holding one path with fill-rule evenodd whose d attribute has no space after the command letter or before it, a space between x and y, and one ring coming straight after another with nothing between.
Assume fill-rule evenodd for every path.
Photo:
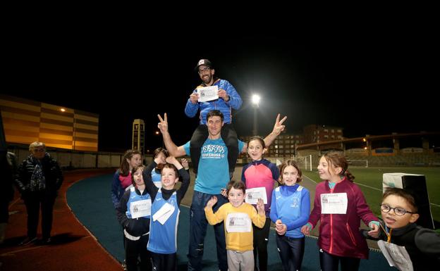
<instances>
[{"instance_id":1,"label":"dark trousers of the child left of the boy with raised arms","mask_svg":"<svg viewBox=\"0 0 440 271\"><path fill-rule=\"evenodd\" d=\"M143 235L139 240L133 241L124 238L126 246L126 264L128 271L138 271L138 258L140 258L140 270L152 270L151 254L147 251L149 234Z\"/></svg>"}]
</instances>

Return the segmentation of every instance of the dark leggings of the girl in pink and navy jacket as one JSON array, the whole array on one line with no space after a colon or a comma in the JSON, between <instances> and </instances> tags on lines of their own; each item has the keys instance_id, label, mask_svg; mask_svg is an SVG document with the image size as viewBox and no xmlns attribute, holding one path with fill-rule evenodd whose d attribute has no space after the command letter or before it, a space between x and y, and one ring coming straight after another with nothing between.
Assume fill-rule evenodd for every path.
<instances>
[{"instance_id":1,"label":"dark leggings of the girl in pink and navy jacket","mask_svg":"<svg viewBox=\"0 0 440 271\"><path fill-rule=\"evenodd\" d=\"M267 243L269 242L270 218L266 218L264 227L259 228L252 224L254 232L254 263L255 270L267 271Z\"/></svg>"}]
</instances>

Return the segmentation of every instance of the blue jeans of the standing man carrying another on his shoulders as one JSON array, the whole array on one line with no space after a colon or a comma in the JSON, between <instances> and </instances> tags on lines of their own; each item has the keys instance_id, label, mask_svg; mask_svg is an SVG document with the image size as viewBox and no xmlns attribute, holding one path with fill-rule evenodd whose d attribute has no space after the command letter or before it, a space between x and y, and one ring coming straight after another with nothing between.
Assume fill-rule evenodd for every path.
<instances>
[{"instance_id":1,"label":"blue jeans of the standing man carrying another on his shoulders","mask_svg":"<svg viewBox=\"0 0 440 271\"><path fill-rule=\"evenodd\" d=\"M202 270L202 258L204 250L204 237L207 233L208 220L204 215L204 207L212 196L217 197L217 203L214 205L214 213L228 200L224 196L204 194L194 191L193 203L190 209L190 247L188 250L188 271ZM214 233L217 246L217 260L219 270L228 270L228 258L226 256L226 239L224 235L224 223L214 225Z\"/></svg>"}]
</instances>

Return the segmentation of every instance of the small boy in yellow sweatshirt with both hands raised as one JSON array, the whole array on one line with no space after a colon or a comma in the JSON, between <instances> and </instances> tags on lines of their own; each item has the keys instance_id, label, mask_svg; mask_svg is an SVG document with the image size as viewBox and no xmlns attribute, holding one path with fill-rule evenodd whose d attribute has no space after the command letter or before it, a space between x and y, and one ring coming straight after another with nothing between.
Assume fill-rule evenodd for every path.
<instances>
[{"instance_id":1,"label":"small boy in yellow sweatshirt with both hands raised","mask_svg":"<svg viewBox=\"0 0 440 271\"><path fill-rule=\"evenodd\" d=\"M243 182L231 181L226 188L225 196L228 196L229 203L224 204L214 213L212 206L217 202L213 196L204 208L207 220L210 225L222 221L225 227L226 252L228 253L228 270L242 271L254 270L254 244L252 223L262 228L266 222L264 203L258 199L257 210L245 203L246 187Z\"/></svg>"}]
</instances>

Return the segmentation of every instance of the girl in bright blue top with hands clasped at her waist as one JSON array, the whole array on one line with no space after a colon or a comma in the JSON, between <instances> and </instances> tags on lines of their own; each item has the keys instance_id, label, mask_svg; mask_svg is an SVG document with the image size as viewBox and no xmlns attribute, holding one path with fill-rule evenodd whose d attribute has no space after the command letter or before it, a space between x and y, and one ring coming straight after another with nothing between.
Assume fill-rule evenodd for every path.
<instances>
[{"instance_id":1,"label":"girl in bright blue top with hands clasped at her waist","mask_svg":"<svg viewBox=\"0 0 440 271\"><path fill-rule=\"evenodd\" d=\"M304 234L310 215L310 194L300 186L302 172L293 160L280 165L281 186L272 192L270 218L276 227L276 246L285 271L301 270Z\"/></svg>"}]
</instances>

